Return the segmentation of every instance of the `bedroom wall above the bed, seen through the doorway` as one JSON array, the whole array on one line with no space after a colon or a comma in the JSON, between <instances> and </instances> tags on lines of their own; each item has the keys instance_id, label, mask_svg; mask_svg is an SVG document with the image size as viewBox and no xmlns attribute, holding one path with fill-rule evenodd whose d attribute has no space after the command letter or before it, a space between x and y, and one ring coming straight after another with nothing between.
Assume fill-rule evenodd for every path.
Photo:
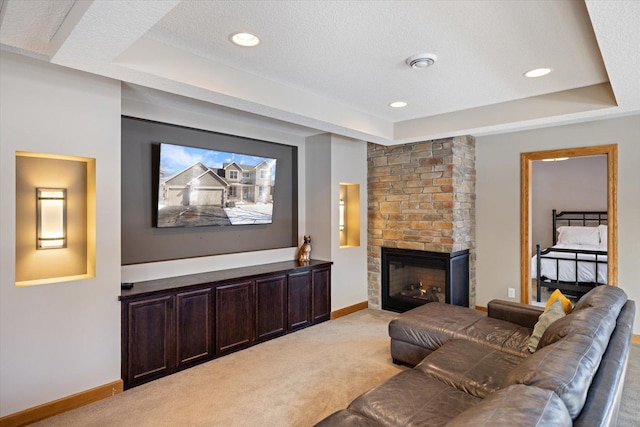
<instances>
[{"instance_id":1,"label":"bedroom wall above the bed, seen through the doorway","mask_svg":"<svg viewBox=\"0 0 640 427\"><path fill-rule=\"evenodd\" d=\"M553 244L553 209L607 210L607 156L536 160L531 167L531 250Z\"/></svg>"}]
</instances>

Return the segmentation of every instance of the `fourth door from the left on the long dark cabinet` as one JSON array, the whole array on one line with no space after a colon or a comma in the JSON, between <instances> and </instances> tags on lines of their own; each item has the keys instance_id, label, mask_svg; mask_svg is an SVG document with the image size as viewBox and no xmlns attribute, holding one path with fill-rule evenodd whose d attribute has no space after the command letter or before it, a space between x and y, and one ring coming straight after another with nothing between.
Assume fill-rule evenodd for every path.
<instances>
[{"instance_id":1,"label":"fourth door from the left on the long dark cabinet","mask_svg":"<svg viewBox=\"0 0 640 427\"><path fill-rule=\"evenodd\" d=\"M287 276L256 280L256 340L265 341L284 334L286 327L285 290Z\"/></svg>"}]
</instances>

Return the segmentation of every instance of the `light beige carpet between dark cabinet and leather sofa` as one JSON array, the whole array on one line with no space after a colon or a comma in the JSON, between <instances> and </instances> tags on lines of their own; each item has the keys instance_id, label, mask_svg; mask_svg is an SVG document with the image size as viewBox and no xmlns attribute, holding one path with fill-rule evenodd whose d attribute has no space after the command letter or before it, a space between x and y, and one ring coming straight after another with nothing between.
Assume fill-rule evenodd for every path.
<instances>
[{"instance_id":1,"label":"light beige carpet between dark cabinet and leather sofa","mask_svg":"<svg viewBox=\"0 0 640 427\"><path fill-rule=\"evenodd\" d=\"M311 426L405 369L389 354L395 313L367 309L153 381L35 426ZM640 419L633 346L620 427Z\"/></svg>"}]
</instances>

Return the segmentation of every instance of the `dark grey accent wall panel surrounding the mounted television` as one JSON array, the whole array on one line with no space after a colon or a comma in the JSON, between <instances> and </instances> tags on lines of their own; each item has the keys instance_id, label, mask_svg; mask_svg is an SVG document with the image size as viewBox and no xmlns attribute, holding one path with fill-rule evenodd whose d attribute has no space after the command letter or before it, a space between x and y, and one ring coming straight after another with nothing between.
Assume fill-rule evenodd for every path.
<instances>
[{"instance_id":1,"label":"dark grey accent wall panel surrounding the mounted television","mask_svg":"<svg viewBox=\"0 0 640 427\"><path fill-rule=\"evenodd\" d=\"M277 159L273 223L157 228L161 142ZM123 265L297 245L297 147L132 117L122 118L121 143Z\"/></svg>"}]
</instances>

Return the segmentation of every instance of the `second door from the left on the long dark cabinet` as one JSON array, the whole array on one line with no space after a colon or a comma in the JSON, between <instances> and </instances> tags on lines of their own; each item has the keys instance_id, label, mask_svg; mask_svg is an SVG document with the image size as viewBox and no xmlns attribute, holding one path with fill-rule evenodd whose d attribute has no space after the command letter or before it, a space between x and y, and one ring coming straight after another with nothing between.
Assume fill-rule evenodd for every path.
<instances>
[{"instance_id":1,"label":"second door from the left on the long dark cabinet","mask_svg":"<svg viewBox=\"0 0 640 427\"><path fill-rule=\"evenodd\" d=\"M205 360L212 353L211 289L176 295L176 351L178 367Z\"/></svg>"}]
</instances>

